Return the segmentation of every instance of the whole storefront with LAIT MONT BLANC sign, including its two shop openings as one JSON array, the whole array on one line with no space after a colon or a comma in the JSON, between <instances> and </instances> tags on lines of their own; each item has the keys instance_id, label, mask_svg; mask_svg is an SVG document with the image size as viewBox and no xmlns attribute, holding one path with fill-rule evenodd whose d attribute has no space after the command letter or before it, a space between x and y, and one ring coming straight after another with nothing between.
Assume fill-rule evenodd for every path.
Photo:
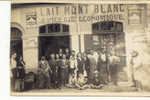
<instances>
[{"instance_id":1,"label":"whole storefront with LAIT MONT BLANC sign, including its two shop openings","mask_svg":"<svg viewBox=\"0 0 150 100\"><path fill-rule=\"evenodd\" d=\"M131 51L142 55L149 48L148 9L148 4L13 4L11 25L20 30L28 70L36 71L41 56L60 48L106 49L120 57L120 82L129 82Z\"/></svg>"}]
</instances>

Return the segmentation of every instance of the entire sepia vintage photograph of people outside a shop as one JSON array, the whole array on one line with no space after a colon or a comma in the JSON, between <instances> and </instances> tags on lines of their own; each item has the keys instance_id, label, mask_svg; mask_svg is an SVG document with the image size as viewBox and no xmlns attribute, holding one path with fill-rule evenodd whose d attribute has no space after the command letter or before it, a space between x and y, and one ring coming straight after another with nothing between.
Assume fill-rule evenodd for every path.
<instances>
[{"instance_id":1,"label":"entire sepia vintage photograph of people outside a shop","mask_svg":"<svg viewBox=\"0 0 150 100\"><path fill-rule=\"evenodd\" d=\"M149 3L12 2L11 95L150 96L149 75Z\"/></svg>"}]
</instances>

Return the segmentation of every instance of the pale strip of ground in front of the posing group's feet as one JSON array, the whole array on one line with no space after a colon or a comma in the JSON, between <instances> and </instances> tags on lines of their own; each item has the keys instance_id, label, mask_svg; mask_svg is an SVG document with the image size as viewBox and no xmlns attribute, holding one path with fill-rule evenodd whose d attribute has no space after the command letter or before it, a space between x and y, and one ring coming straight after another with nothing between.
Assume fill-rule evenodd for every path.
<instances>
[{"instance_id":1,"label":"pale strip of ground in front of the posing group's feet","mask_svg":"<svg viewBox=\"0 0 150 100\"><path fill-rule=\"evenodd\" d=\"M78 90L78 89L71 89L71 88L63 88L63 89L32 89L29 91L17 93L14 92L12 95L117 95L118 93L124 95L124 93L128 93L132 96L132 93L137 92L134 87L129 86L114 86L114 85L107 85L104 86L102 89L85 89L85 90ZM110 94L111 93L111 94Z\"/></svg>"}]
</instances>

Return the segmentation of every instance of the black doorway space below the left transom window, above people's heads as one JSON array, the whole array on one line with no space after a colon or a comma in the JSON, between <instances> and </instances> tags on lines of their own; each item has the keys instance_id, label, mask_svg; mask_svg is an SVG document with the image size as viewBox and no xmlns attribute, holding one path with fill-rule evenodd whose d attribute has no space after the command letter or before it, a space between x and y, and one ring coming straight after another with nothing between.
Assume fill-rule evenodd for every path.
<instances>
[{"instance_id":1,"label":"black doorway space below the left transom window, above people's heads","mask_svg":"<svg viewBox=\"0 0 150 100\"><path fill-rule=\"evenodd\" d=\"M45 56L47 59L51 53L58 53L59 49L70 49L69 36L40 36L39 37L39 58Z\"/></svg>"}]
</instances>

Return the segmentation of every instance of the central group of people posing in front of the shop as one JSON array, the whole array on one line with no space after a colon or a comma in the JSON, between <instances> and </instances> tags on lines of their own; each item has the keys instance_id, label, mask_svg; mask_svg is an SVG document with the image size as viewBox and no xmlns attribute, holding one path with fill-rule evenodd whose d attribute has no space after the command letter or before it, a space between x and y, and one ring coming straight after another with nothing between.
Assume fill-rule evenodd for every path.
<instances>
[{"instance_id":1,"label":"central group of people posing in front of the shop","mask_svg":"<svg viewBox=\"0 0 150 100\"><path fill-rule=\"evenodd\" d=\"M42 56L38 65L38 88L102 88L109 82L117 85L120 59L104 50L76 53L59 49L57 54Z\"/></svg>"}]
</instances>

